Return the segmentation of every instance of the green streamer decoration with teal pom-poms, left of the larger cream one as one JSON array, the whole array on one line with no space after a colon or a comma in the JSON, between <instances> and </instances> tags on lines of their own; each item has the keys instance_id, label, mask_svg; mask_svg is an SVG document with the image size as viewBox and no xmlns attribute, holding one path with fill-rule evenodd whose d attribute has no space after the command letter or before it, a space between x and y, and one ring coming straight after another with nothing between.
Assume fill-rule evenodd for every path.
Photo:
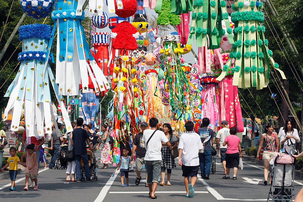
<instances>
[{"instance_id":1,"label":"green streamer decoration with teal pom-poms, left of the larger cream one","mask_svg":"<svg viewBox=\"0 0 303 202\"><path fill-rule=\"evenodd\" d=\"M228 41L234 43L225 0L211 0L209 2L195 0L194 7L187 44L192 45L194 38L196 38L196 46L198 47L219 48L221 37L225 35L221 20L224 20L227 27Z\"/></svg>"}]
</instances>

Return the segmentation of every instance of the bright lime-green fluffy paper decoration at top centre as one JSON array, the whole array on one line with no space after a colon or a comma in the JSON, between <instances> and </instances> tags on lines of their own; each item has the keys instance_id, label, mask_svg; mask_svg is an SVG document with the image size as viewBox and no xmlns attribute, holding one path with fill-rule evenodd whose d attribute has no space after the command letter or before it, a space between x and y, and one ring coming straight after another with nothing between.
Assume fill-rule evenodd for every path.
<instances>
[{"instance_id":1,"label":"bright lime-green fluffy paper decoration at top centre","mask_svg":"<svg viewBox=\"0 0 303 202\"><path fill-rule=\"evenodd\" d=\"M181 23L181 18L171 13L170 0L163 0L161 7L155 9L155 12L159 14L157 18L158 25L179 25Z\"/></svg>"}]
</instances>

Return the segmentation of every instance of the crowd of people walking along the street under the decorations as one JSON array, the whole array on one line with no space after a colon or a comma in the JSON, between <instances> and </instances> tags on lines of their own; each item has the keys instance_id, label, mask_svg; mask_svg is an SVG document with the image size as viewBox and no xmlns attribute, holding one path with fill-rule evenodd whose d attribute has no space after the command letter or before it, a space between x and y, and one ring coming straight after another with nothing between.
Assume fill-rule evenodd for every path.
<instances>
[{"instance_id":1,"label":"crowd of people walking along the street under the decorations","mask_svg":"<svg viewBox=\"0 0 303 202\"><path fill-rule=\"evenodd\" d=\"M228 122L221 121L221 129L215 135L214 131L208 127L210 121L208 118L202 119L201 127L197 133L194 131L194 123L187 121L185 123L186 131L179 134L178 137L173 133L173 129L170 124L165 123L162 127L159 127L158 119L151 118L149 124L142 122L140 124L140 130L138 134L134 135L134 139L130 141L131 128L126 129L123 122L120 122L120 162L117 164L117 169L120 169L121 175L121 187L129 186L128 174L133 172L133 162L136 162L136 180L135 185L139 185L142 180L141 172L145 167L146 176L145 187L149 188L149 197L157 198L155 195L156 188L158 186L158 177L161 175L160 186L171 186L170 177L172 169L176 167L175 158L178 157L178 164L182 168L182 176L184 177L186 197L193 197L195 195L194 186L197 180L197 174L200 168L201 178L209 180L211 172L211 156L212 146L216 139L216 149L220 151L221 163L224 169L223 179L231 179L229 176L230 169L233 169L233 180L237 180L237 171L239 167L239 161L242 157L241 140L236 135L237 129L235 127L229 128ZM108 125L104 124L101 127L101 131L98 127L95 131L92 130L92 124L83 124L83 119L78 118L76 122L72 122L73 131L62 134L60 131L62 124L57 124L59 130L52 131L52 138L50 147L46 147L44 144L44 137L38 139L36 137L26 137L26 132L23 133L22 144L25 148L25 153L21 159L16 156L16 148L10 148L11 157L8 158L8 163L3 169L9 166L9 173L12 180L12 186L9 190L15 190L15 178L18 170L18 163L26 167L25 175L25 187L38 189L38 163L43 162L45 168L54 169L55 161L58 157L59 147L62 143L68 144L68 151L73 151L74 159L68 161L66 169L66 181L82 182L81 171L81 159L84 164L85 181L92 182L89 165L87 148L91 151L95 151L96 147L101 149L100 162L103 164L102 169L106 169L108 164L113 163L113 156L111 153L113 137L111 136L112 123ZM280 138L279 138L280 137ZM271 123L268 123L265 127L265 133L260 137L260 146L257 148L257 160L259 160L259 154L264 142L264 151L262 159L264 161L264 185L268 182L268 170L270 166L270 160L273 158L276 152L280 151L280 145L288 145L293 152L294 157L303 156L302 153L298 153L295 145L296 142L300 142L298 131L292 127L291 120L288 119L285 122L285 127L277 134ZM132 148L131 148L132 144ZM101 147L100 147L101 146ZM178 148L177 155L173 155L173 150ZM45 155L49 149L53 151L53 156L49 166L46 165ZM134 158L135 157L135 158ZM23 163L23 159L26 158L26 164ZM167 172L165 182L165 171ZM72 176L71 176L72 174ZM191 177L191 180L189 180ZM126 183L124 184L124 178ZM32 183L30 186L29 179ZM271 178L269 180L271 183Z\"/></svg>"}]
</instances>

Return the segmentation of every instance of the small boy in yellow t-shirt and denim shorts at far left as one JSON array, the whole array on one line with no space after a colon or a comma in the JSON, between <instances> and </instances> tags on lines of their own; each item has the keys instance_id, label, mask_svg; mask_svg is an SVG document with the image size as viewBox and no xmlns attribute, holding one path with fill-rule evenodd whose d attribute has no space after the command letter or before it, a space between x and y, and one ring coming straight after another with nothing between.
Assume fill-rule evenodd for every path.
<instances>
[{"instance_id":1,"label":"small boy in yellow t-shirt and denim shorts at far left","mask_svg":"<svg viewBox=\"0 0 303 202\"><path fill-rule=\"evenodd\" d=\"M18 173L18 163L24 167L24 165L18 156L16 156L17 150L15 147L9 148L9 154L11 154L11 157L8 157L7 164L1 169L2 171L9 166L9 176L11 177L12 180L12 187L9 188L11 191L15 191L15 179Z\"/></svg>"}]
</instances>

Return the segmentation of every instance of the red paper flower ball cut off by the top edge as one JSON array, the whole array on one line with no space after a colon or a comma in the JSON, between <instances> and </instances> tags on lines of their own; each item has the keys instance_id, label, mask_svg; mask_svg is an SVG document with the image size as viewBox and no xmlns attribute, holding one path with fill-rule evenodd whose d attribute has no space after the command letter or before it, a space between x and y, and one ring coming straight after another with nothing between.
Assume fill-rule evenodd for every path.
<instances>
[{"instance_id":1,"label":"red paper flower ball cut off by the top edge","mask_svg":"<svg viewBox=\"0 0 303 202\"><path fill-rule=\"evenodd\" d=\"M115 2L115 9L116 14L121 18L128 18L132 15L135 15L135 12L137 11L137 1L136 0L121 0L123 4L123 9L121 4L117 5L117 2Z\"/></svg>"}]
</instances>

